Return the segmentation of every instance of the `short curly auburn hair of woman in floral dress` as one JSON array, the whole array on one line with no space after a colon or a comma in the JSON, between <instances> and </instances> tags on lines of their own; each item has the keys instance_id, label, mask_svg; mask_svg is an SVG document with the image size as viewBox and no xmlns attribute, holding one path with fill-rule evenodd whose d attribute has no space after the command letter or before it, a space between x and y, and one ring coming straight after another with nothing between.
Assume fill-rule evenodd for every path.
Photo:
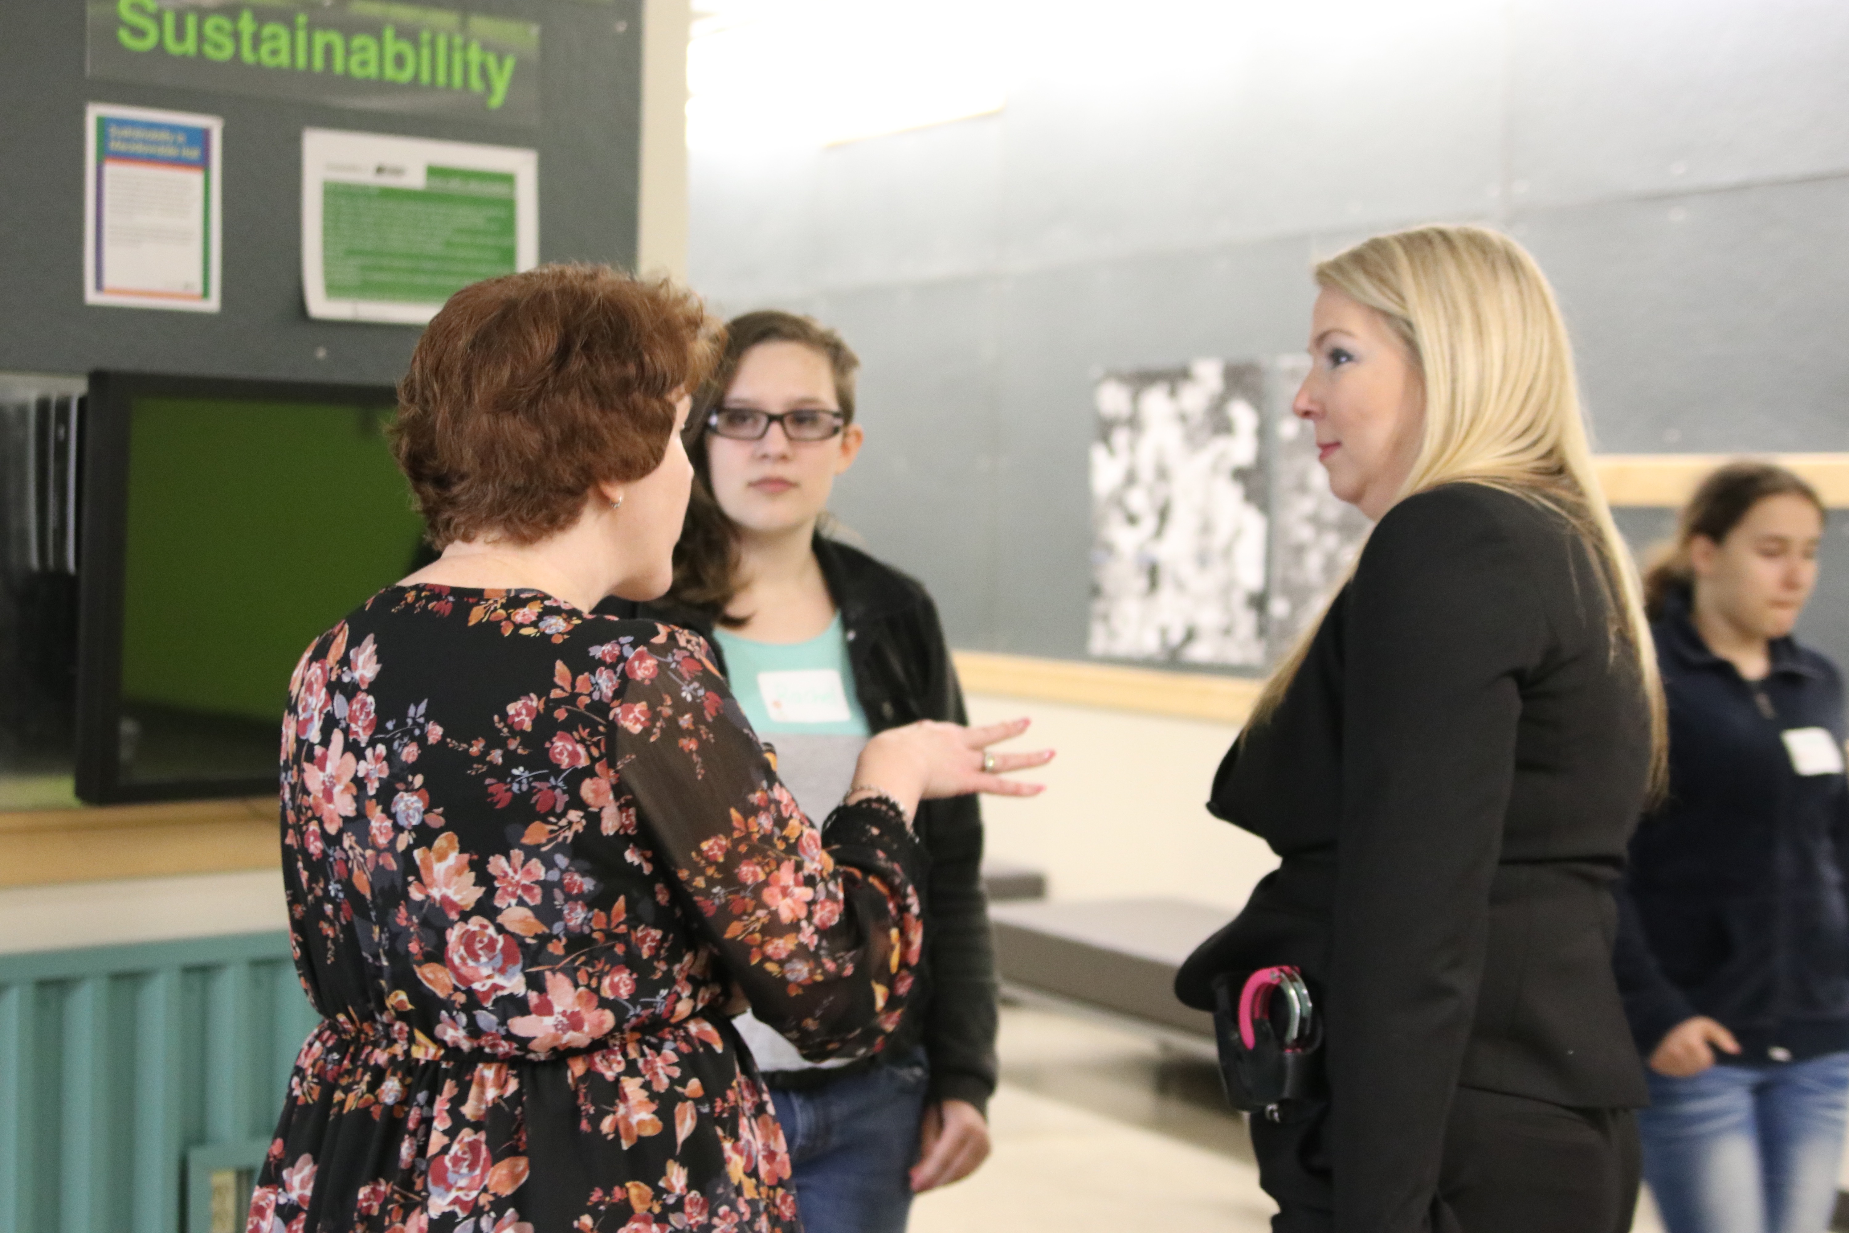
<instances>
[{"instance_id":1,"label":"short curly auburn hair of woman in floral dress","mask_svg":"<svg viewBox=\"0 0 1849 1233\"><path fill-rule=\"evenodd\" d=\"M464 287L398 383L392 453L425 538L534 543L660 466L721 327L666 279L547 264Z\"/></svg>"}]
</instances>

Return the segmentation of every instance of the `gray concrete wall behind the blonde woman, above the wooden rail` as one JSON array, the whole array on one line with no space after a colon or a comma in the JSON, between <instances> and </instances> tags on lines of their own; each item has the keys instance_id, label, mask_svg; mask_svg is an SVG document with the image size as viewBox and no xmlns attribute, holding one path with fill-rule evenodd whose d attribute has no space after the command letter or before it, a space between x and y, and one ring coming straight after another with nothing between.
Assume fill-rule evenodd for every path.
<instances>
[{"instance_id":1,"label":"gray concrete wall behind the blonde woman, above the wooden rail","mask_svg":"<svg viewBox=\"0 0 1849 1233\"><path fill-rule=\"evenodd\" d=\"M1378 229L1531 246L1603 449L1849 449L1849 7L995 2L1000 115L692 161L695 287L862 353L838 512L958 645L1084 654L1098 370L1300 349L1311 261Z\"/></svg>"}]
</instances>

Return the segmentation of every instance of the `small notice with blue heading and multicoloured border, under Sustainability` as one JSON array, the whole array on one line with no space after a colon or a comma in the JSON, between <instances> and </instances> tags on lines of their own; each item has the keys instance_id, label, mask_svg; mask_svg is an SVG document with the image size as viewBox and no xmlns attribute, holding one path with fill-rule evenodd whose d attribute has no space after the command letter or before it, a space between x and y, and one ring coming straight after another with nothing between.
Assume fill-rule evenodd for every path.
<instances>
[{"instance_id":1,"label":"small notice with blue heading and multicoloured border, under Sustainability","mask_svg":"<svg viewBox=\"0 0 1849 1233\"><path fill-rule=\"evenodd\" d=\"M216 312L224 120L89 104L83 303Z\"/></svg>"}]
</instances>

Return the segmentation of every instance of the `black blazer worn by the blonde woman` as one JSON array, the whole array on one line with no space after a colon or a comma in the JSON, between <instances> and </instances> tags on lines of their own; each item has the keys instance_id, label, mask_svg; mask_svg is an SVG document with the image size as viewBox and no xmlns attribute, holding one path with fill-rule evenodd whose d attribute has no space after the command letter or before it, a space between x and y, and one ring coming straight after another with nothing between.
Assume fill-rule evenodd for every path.
<instances>
[{"instance_id":1,"label":"black blazer worn by the blonde woman","mask_svg":"<svg viewBox=\"0 0 1849 1233\"><path fill-rule=\"evenodd\" d=\"M1407 497L1209 810L1283 858L1182 969L1296 963L1328 1009L1342 1233L1427 1229L1459 1085L1647 1104L1612 882L1649 765L1633 658L1564 518L1483 484Z\"/></svg>"}]
</instances>

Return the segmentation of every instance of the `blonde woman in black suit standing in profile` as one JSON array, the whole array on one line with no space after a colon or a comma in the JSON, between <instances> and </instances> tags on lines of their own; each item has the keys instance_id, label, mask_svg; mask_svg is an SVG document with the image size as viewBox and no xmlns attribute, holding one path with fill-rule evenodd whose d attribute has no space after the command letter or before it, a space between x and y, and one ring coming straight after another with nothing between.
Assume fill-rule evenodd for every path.
<instances>
[{"instance_id":1,"label":"blonde woman in black suit standing in profile","mask_svg":"<svg viewBox=\"0 0 1849 1233\"><path fill-rule=\"evenodd\" d=\"M1291 965L1324 1017L1316 1083L1252 1118L1280 1233L1616 1233L1647 1096L1612 882L1662 706L1566 329L1476 227L1316 283L1294 410L1378 525L1215 778L1283 861L1178 993Z\"/></svg>"}]
</instances>

